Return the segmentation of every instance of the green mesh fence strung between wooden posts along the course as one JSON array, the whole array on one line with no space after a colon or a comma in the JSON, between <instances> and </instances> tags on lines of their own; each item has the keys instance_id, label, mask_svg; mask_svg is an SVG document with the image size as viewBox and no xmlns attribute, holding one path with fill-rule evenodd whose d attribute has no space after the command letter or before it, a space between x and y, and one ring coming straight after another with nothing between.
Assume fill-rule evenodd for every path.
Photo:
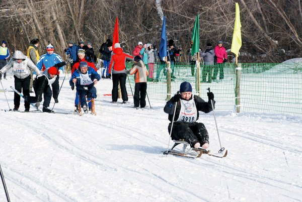
<instances>
[{"instance_id":1,"label":"green mesh fence strung between wooden posts along the course","mask_svg":"<svg viewBox=\"0 0 302 202\"><path fill-rule=\"evenodd\" d=\"M131 69L133 63L127 63L127 69ZM241 63L240 82L240 111L241 112L277 112L302 114L302 64L247 64ZM218 72L216 80L209 82L209 76L203 76L205 70L210 77L214 72L213 66L200 66L200 92L196 88L197 66L188 63L171 64L173 78L171 81L171 93L173 96L179 90L183 81L191 83L193 94L207 100L207 88L209 87L215 96L216 110L235 110L236 88L236 64L223 64L223 79ZM194 75L192 75L192 72ZM165 102L167 97L166 64L157 63L153 76L147 82L147 94L151 103ZM172 74L172 73L171 73ZM134 92L133 75L128 75ZM128 94L130 84L126 82Z\"/></svg>"}]
</instances>

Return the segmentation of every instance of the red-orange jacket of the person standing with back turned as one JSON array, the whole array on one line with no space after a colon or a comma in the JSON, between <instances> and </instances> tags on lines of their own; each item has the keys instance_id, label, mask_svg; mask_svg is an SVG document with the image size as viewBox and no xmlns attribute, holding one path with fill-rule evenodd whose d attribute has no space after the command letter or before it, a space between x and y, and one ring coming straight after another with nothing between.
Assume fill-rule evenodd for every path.
<instances>
[{"instance_id":1,"label":"red-orange jacket of the person standing with back turned","mask_svg":"<svg viewBox=\"0 0 302 202\"><path fill-rule=\"evenodd\" d=\"M113 70L115 71L122 71L126 68L126 60L133 61L133 57L123 52L121 48L115 48L111 58L111 62L109 65L109 73L111 73L111 67L113 66Z\"/></svg>"}]
</instances>

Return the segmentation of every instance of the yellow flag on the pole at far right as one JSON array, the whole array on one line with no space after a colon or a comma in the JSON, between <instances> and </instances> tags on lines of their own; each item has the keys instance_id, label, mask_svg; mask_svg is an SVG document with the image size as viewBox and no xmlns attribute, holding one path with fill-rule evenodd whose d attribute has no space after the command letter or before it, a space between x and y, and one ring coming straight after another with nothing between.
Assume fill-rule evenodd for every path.
<instances>
[{"instance_id":1,"label":"yellow flag on the pole at far right","mask_svg":"<svg viewBox=\"0 0 302 202\"><path fill-rule=\"evenodd\" d=\"M235 19L235 27L234 27L234 33L233 33L231 52L235 53L237 57L238 57L241 45L242 45L242 41L241 41L240 11L239 11L239 5L238 5L238 3L236 3L236 19Z\"/></svg>"}]
</instances>

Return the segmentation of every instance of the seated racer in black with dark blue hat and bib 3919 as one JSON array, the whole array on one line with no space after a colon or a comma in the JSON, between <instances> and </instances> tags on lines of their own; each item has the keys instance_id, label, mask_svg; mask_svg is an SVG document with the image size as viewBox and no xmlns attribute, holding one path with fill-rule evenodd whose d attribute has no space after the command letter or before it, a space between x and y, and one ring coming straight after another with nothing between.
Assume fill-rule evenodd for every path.
<instances>
[{"instance_id":1,"label":"seated racer in black with dark blue hat and bib 3919","mask_svg":"<svg viewBox=\"0 0 302 202\"><path fill-rule=\"evenodd\" d=\"M192 86L184 81L180 84L179 92L174 95L164 108L164 112L169 114L168 126L171 131L172 140L184 140L192 148L209 148L209 135L203 123L196 122L199 118L199 111L209 113L215 108L214 94L207 92L208 102L201 97L192 94ZM213 103L213 108L211 105ZM174 120L173 120L174 117Z\"/></svg>"}]
</instances>

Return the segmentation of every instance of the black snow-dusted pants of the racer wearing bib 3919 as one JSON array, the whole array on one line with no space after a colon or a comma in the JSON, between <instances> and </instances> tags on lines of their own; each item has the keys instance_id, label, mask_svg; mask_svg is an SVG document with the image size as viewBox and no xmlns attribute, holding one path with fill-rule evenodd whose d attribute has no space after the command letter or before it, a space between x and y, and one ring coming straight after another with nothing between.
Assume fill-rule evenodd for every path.
<instances>
[{"instance_id":1,"label":"black snow-dusted pants of the racer wearing bib 3919","mask_svg":"<svg viewBox=\"0 0 302 202\"><path fill-rule=\"evenodd\" d=\"M172 122L169 124L168 130L171 131ZM190 143L191 147L199 142L200 145L204 141L209 141L208 132L203 123L187 123L187 122L174 122L172 134L172 140L185 140Z\"/></svg>"}]
</instances>

